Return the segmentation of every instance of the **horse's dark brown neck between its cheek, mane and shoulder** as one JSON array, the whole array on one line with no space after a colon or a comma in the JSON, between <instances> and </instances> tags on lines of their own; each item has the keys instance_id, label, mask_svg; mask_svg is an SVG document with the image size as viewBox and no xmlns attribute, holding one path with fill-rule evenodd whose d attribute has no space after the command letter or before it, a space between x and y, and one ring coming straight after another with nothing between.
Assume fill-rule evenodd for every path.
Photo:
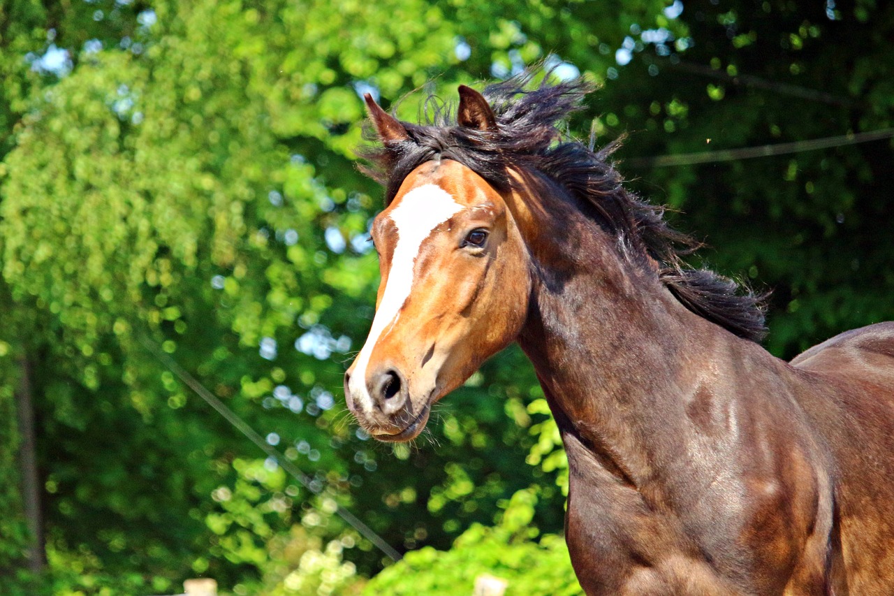
<instances>
[{"instance_id":1,"label":"horse's dark brown neck between its cheek, mane and shoulder","mask_svg":"<svg viewBox=\"0 0 894 596\"><path fill-rule=\"evenodd\" d=\"M539 233L552 234L549 226ZM566 444L577 440L638 485L685 456L693 417L735 422L735 387L748 370L784 365L688 311L654 270L628 263L606 236L571 216L558 243L554 235L529 242L536 283L519 344Z\"/></svg>"}]
</instances>

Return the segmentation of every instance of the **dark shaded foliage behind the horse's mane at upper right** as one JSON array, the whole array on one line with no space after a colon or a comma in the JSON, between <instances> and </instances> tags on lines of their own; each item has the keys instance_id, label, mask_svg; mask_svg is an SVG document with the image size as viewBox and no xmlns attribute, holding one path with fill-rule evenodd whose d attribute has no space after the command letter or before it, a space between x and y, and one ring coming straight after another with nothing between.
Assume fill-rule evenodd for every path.
<instances>
[{"instance_id":1,"label":"dark shaded foliage behind the horse's mane at upper right","mask_svg":"<svg viewBox=\"0 0 894 596\"><path fill-rule=\"evenodd\" d=\"M859 16L865 6L684 5L685 51L675 58L645 47L611 86L623 127L637 131L620 158L816 139L894 122L890 76L868 67L890 60L892 47L879 37L894 28L890 7L873 8L866 21ZM865 45L853 46L854 39ZM854 68L829 68L845 55ZM766 345L791 358L845 329L894 317L892 253L881 242L892 223L883 190L890 150L890 140L881 140L622 169L639 176L637 190L686 212L685 229L713 245L703 251L708 265L772 290Z\"/></svg>"}]
</instances>

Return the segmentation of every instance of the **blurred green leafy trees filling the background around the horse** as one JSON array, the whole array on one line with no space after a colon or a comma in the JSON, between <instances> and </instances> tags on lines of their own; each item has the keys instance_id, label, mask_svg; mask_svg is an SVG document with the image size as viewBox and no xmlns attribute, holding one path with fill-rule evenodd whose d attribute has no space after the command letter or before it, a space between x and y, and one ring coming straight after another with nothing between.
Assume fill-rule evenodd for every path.
<instances>
[{"instance_id":1,"label":"blurred green leafy trees filling the background around the horse","mask_svg":"<svg viewBox=\"0 0 894 596\"><path fill-rule=\"evenodd\" d=\"M529 64L597 81L569 132L627 134L629 187L772 291L790 358L894 319L892 39L875 0L4 0L0 594L580 593L517 349L413 446L345 411L361 95L415 122Z\"/></svg>"}]
</instances>

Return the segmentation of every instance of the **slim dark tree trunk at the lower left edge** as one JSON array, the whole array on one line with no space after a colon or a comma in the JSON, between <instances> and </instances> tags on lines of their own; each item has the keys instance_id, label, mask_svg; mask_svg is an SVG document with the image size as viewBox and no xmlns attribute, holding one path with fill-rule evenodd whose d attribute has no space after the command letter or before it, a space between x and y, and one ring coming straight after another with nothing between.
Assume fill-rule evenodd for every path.
<instances>
[{"instance_id":1,"label":"slim dark tree trunk at the lower left edge","mask_svg":"<svg viewBox=\"0 0 894 596\"><path fill-rule=\"evenodd\" d=\"M28 559L31 571L39 574L46 565L44 549L43 517L40 512L40 479L34 432L34 404L31 393L31 366L27 358L20 361L21 379L15 394L16 413L19 418L19 468L21 470L21 499L31 543Z\"/></svg>"}]
</instances>

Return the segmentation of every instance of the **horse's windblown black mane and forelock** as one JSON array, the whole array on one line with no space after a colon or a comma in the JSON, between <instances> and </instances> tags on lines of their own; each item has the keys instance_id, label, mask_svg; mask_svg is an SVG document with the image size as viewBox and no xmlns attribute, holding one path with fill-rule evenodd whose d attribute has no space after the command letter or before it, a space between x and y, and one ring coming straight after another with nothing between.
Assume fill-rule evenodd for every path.
<instances>
[{"instance_id":1,"label":"horse's windblown black mane and forelock","mask_svg":"<svg viewBox=\"0 0 894 596\"><path fill-rule=\"evenodd\" d=\"M619 142L595 150L592 141L587 146L559 129L594 86L583 79L552 85L547 76L536 89L525 90L531 78L525 72L485 89L496 131L457 126L452 106L430 97L426 109L433 114L426 114L427 124L401 123L410 140L363 149L360 156L368 163L363 169L384 185L385 203L413 169L439 156L459 161L499 189L510 185L510 168L539 171L592 205L624 252L660 263L662 283L687 309L759 342L766 333L763 296L711 270L685 265L681 257L699 243L668 226L662 207L623 187L610 161ZM371 129L367 138L375 139Z\"/></svg>"}]
</instances>

